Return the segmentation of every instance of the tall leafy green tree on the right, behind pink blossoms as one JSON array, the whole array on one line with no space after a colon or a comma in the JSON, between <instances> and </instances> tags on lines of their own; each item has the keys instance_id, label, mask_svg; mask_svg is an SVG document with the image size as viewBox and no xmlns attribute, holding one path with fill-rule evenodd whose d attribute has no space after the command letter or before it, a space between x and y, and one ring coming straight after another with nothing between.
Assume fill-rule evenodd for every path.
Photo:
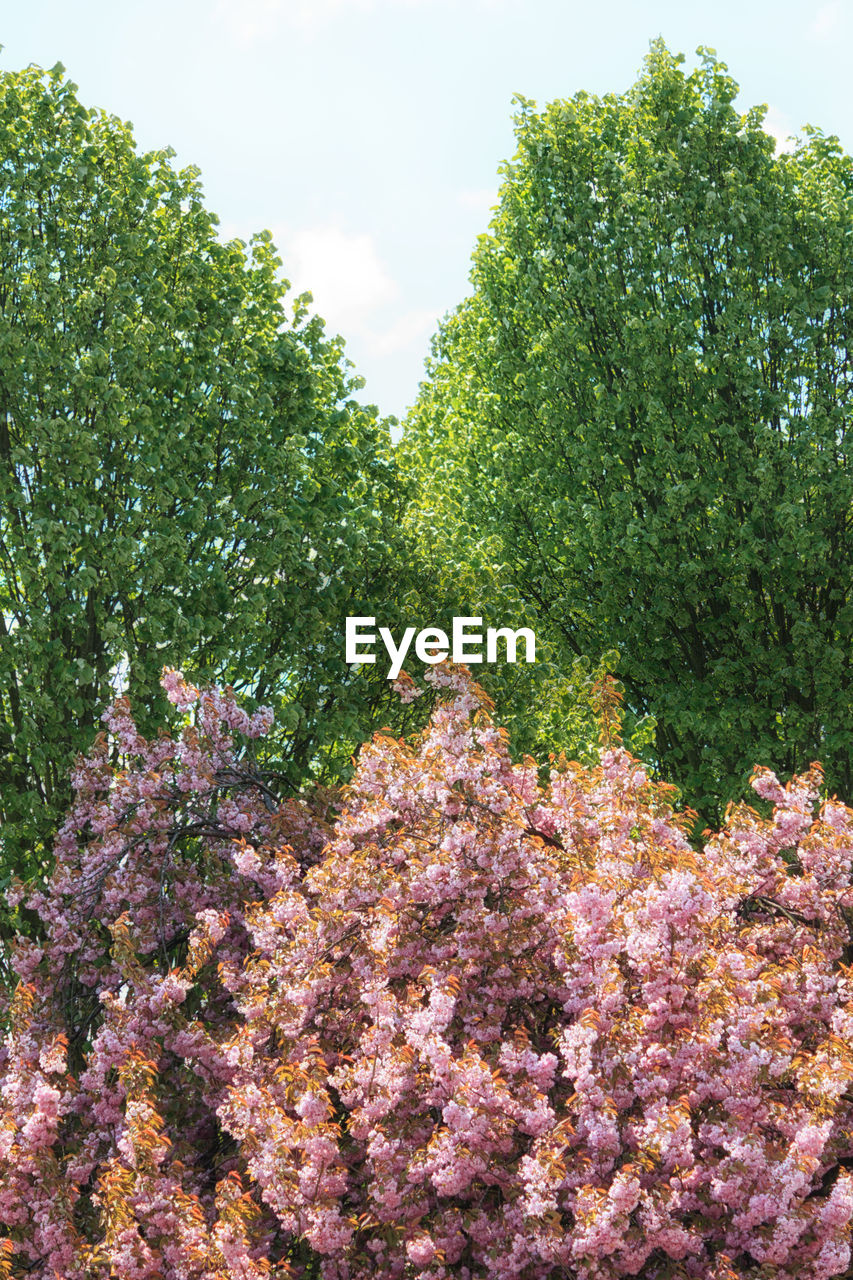
<instances>
[{"instance_id":1,"label":"tall leafy green tree on the right, behind pink blossoms","mask_svg":"<svg viewBox=\"0 0 853 1280\"><path fill-rule=\"evenodd\" d=\"M519 148L401 456L564 660L615 646L712 813L753 756L853 783L853 169L699 50L621 96L520 100Z\"/></svg>"}]
</instances>

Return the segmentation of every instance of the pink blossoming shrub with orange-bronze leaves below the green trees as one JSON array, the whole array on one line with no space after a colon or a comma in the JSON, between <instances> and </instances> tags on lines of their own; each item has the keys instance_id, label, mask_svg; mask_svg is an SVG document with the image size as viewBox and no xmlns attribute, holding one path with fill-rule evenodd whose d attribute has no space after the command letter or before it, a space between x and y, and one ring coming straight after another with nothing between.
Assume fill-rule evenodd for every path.
<instances>
[{"instance_id":1,"label":"pink blossoming shrub with orange-bronze leaves below the green trees","mask_svg":"<svg viewBox=\"0 0 853 1280\"><path fill-rule=\"evenodd\" d=\"M110 713L15 960L0 1275L847 1272L853 812L758 772L697 852L612 732L543 785L432 680L330 829L228 695Z\"/></svg>"}]
</instances>

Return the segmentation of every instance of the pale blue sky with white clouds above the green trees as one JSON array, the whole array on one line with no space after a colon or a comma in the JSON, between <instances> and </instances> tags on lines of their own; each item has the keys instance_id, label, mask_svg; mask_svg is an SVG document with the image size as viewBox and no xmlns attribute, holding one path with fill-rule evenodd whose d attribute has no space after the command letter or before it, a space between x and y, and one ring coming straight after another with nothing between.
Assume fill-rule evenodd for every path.
<instances>
[{"instance_id":1,"label":"pale blue sky with white clouds above the green trees","mask_svg":"<svg viewBox=\"0 0 853 1280\"><path fill-rule=\"evenodd\" d=\"M87 106L201 169L227 238L272 230L398 419L470 291L512 96L622 92L657 36L688 67L716 49L780 145L808 123L853 150L853 0L0 0L0 68L61 61Z\"/></svg>"}]
</instances>

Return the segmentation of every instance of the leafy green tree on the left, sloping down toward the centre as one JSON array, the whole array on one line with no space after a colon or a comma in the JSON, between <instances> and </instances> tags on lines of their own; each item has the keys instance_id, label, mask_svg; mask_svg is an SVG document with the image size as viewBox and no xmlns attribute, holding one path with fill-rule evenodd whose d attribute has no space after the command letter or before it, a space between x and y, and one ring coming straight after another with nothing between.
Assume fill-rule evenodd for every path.
<instances>
[{"instance_id":1,"label":"leafy green tree on the left, sloping down toward the centre","mask_svg":"<svg viewBox=\"0 0 853 1280\"><path fill-rule=\"evenodd\" d=\"M291 786L393 712L342 635L402 593L386 424L269 234L222 243L197 170L74 90L0 77L4 883L46 864L114 687L161 721L164 662L272 700Z\"/></svg>"}]
</instances>

